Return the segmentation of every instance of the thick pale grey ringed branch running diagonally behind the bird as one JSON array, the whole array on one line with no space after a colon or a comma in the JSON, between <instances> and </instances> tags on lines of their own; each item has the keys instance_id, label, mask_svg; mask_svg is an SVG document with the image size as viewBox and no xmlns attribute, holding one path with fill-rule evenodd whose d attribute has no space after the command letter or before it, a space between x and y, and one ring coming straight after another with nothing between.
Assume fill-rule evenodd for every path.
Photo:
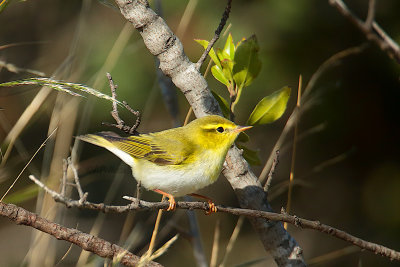
<instances>
[{"instance_id":1,"label":"thick pale grey ringed branch running diagonally behind the bird","mask_svg":"<svg viewBox=\"0 0 400 267\"><path fill-rule=\"evenodd\" d=\"M184 54L182 43L165 21L149 8L147 1L115 2L122 15L140 32L150 53L160 60L162 72L171 77L172 82L185 95L196 117L222 115L206 80ZM229 151L226 162L228 164L223 173L235 190L241 207L271 211L261 184L236 147ZM250 221L265 249L272 254L279 266L305 265L300 247L283 229L281 223L266 222L258 218L251 218Z\"/></svg>"}]
</instances>

